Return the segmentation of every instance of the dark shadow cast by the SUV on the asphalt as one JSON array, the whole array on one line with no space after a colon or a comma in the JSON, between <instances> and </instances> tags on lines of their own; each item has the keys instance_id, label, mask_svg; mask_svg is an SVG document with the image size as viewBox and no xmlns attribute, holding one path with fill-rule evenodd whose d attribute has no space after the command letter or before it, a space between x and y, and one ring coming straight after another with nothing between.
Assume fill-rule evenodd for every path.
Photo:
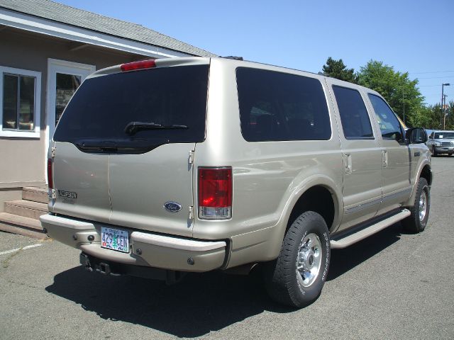
<instances>
[{"instance_id":1,"label":"dark shadow cast by the SUV on the asphalt","mask_svg":"<svg viewBox=\"0 0 454 340\"><path fill-rule=\"evenodd\" d=\"M401 231L397 224L348 249L333 250L328 280L335 280L397 242ZM190 273L180 283L165 285L155 280L89 273L78 266L57 274L54 283L45 290L74 301L103 319L140 324L189 338L223 329L264 311L294 312L267 297L260 271L250 276Z\"/></svg>"}]
</instances>

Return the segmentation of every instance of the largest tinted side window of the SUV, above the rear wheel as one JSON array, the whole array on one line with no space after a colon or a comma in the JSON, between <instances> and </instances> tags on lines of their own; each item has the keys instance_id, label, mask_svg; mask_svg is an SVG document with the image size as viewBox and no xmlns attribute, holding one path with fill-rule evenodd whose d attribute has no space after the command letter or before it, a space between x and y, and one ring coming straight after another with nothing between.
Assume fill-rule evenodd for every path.
<instances>
[{"instance_id":1,"label":"largest tinted side window of the SUV, above the rear wheel","mask_svg":"<svg viewBox=\"0 0 454 340\"><path fill-rule=\"evenodd\" d=\"M317 79L247 67L236 70L236 79L241 132L248 142L331 138Z\"/></svg>"}]
</instances>

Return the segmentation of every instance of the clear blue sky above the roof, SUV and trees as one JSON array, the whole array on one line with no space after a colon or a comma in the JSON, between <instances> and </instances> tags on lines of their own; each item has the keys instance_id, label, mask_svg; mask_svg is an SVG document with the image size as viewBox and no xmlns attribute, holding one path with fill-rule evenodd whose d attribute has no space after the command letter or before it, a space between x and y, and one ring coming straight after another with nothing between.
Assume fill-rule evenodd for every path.
<instances>
[{"instance_id":1,"label":"clear blue sky above the roof, SUV and trees","mask_svg":"<svg viewBox=\"0 0 454 340\"><path fill-rule=\"evenodd\" d=\"M146 26L216 55L319 72L379 60L419 79L426 103L454 101L454 0L58 0Z\"/></svg>"}]
</instances>

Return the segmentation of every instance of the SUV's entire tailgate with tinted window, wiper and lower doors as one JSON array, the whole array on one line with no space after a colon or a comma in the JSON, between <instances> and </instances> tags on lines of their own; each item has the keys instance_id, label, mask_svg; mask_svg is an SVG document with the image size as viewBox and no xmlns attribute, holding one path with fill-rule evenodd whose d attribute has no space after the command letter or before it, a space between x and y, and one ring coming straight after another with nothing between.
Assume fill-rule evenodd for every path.
<instances>
[{"instance_id":1,"label":"SUV's entire tailgate with tinted window, wiper and lower doors","mask_svg":"<svg viewBox=\"0 0 454 340\"><path fill-rule=\"evenodd\" d=\"M205 140L209 60L137 65L148 64L96 72L65 109L54 211L192 237L189 153Z\"/></svg>"}]
</instances>

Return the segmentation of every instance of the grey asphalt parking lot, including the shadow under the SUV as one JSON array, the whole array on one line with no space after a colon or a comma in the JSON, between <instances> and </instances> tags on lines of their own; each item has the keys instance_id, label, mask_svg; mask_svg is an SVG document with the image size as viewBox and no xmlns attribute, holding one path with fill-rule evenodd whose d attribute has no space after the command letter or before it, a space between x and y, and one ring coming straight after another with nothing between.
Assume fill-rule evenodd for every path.
<instances>
[{"instance_id":1,"label":"grey asphalt parking lot, including the shadow under the SUV","mask_svg":"<svg viewBox=\"0 0 454 340\"><path fill-rule=\"evenodd\" d=\"M454 157L433 159L428 227L333 250L319 300L271 302L257 276L106 277L79 251L0 232L0 339L453 339Z\"/></svg>"}]
</instances>

